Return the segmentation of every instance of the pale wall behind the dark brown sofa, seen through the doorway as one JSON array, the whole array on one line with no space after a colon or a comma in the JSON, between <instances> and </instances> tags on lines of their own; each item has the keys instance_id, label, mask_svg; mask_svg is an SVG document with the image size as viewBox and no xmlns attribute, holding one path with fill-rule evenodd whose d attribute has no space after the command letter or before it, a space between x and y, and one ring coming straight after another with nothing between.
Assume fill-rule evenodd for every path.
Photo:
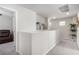
<instances>
[{"instance_id":1,"label":"pale wall behind the dark brown sofa, seen through the doorway","mask_svg":"<svg viewBox=\"0 0 79 59\"><path fill-rule=\"evenodd\" d=\"M0 30L13 31L13 19L12 17L2 15L0 16Z\"/></svg>"}]
</instances>

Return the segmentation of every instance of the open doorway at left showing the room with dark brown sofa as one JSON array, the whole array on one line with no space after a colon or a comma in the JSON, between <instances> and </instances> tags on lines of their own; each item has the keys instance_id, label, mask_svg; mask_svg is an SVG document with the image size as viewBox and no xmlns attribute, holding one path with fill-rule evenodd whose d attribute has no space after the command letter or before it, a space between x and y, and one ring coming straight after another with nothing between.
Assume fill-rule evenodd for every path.
<instances>
[{"instance_id":1,"label":"open doorway at left showing the room with dark brown sofa","mask_svg":"<svg viewBox=\"0 0 79 59\"><path fill-rule=\"evenodd\" d=\"M0 55L16 55L15 12L0 7Z\"/></svg>"}]
</instances>

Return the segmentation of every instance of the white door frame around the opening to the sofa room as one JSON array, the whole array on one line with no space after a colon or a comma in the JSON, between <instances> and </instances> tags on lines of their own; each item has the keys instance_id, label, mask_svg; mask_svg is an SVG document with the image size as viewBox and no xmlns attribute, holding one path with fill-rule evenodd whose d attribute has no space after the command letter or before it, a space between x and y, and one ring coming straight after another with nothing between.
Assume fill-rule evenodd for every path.
<instances>
[{"instance_id":1,"label":"white door frame around the opening to the sofa room","mask_svg":"<svg viewBox=\"0 0 79 59\"><path fill-rule=\"evenodd\" d=\"M12 9L12 8L9 8L9 7L6 7L6 6L0 6L1 8L4 8L4 9L8 9L8 10L10 10L10 11L12 11L13 13L14 13L14 15L13 15L13 22L15 21L15 25L13 24L13 34L14 34L14 45L15 45L15 49L16 49L16 51L17 51L17 11L16 10L14 10L14 9Z\"/></svg>"}]
</instances>

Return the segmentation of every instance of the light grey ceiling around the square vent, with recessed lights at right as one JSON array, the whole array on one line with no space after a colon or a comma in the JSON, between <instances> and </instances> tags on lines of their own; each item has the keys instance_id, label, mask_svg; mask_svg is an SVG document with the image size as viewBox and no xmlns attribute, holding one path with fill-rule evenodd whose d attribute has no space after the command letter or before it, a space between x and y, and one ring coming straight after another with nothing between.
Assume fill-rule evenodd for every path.
<instances>
[{"instance_id":1,"label":"light grey ceiling around the square vent, with recessed lights at right","mask_svg":"<svg viewBox=\"0 0 79 59\"><path fill-rule=\"evenodd\" d=\"M76 15L79 11L78 4L69 4L69 13L61 12L59 8L64 4L19 4L22 7L31 9L44 17L63 18Z\"/></svg>"}]
</instances>

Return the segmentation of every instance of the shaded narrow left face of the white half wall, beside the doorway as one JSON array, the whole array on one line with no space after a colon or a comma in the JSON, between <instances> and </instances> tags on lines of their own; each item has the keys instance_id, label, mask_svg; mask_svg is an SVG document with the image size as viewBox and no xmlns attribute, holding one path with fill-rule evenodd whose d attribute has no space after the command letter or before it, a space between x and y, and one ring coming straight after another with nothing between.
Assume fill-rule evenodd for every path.
<instances>
[{"instance_id":1,"label":"shaded narrow left face of the white half wall, beside the doorway","mask_svg":"<svg viewBox=\"0 0 79 59\"><path fill-rule=\"evenodd\" d=\"M32 34L27 32L18 32L19 53L21 55L31 55L32 53Z\"/></svg>"}]
</instances>

